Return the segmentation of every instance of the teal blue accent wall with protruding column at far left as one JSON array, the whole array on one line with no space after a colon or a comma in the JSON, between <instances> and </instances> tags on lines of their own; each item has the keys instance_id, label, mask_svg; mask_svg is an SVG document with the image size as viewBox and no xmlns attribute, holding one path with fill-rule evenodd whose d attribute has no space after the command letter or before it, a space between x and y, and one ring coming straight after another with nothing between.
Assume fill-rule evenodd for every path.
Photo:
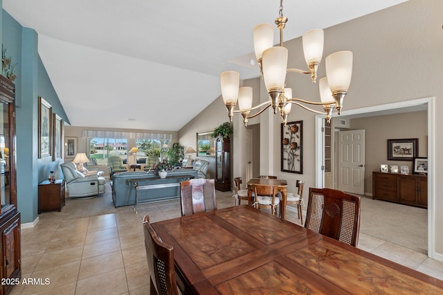
<instances>
[{"instance_id":1,"label":"teal blue accent wall with protruding column at far left","mask_svg":"<svg viewBox=\"0 0 443 295\"><path fill-rule=\"evenodd\" d=\"M1 1L1 0L0 0ZM1 2L0 2L1 3ZM38 159L38 97L42 96L53 107L53 113L69 122L60 99L40 59L35 30L22 27L8 12L2 10L1 41L6 56L17 63L14 81L16 87L16 161L17 207L21 222L34 222L38 206L38 184L48 177L49 171L57 171L62 178L60 162L52 157Z\"/></svg>"}]
</instances>

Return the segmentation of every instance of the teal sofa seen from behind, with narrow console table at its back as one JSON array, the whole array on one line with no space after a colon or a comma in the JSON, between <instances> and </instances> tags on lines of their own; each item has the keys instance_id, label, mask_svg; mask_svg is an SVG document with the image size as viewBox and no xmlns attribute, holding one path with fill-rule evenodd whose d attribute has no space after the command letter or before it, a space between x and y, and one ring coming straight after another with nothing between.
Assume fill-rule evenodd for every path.
<instances>
[{"instance_id":1,"label":"teal sofa seen from behind, with narrow console table at its back","mask_svg":"<svg viewBox=\"0 0 443 295\"><path fill-rule=\"evenodd\" d=\"M134 181L137 181L139 188L138 204L179 199L180 181L192 178L197 178L197 170L176 169L168 171L168 176L165 179L161 179L154 171L116 173L111 181L112 201L116 207L134 205L136 199Z\"/></svg>"}]
</instances>

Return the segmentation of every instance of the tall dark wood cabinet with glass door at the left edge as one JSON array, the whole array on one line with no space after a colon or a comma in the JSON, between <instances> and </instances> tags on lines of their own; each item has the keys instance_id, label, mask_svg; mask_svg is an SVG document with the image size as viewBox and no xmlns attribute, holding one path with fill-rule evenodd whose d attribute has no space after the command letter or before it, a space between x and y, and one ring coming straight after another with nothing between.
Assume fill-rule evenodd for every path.
<instances>
[{"instance_id":1,"label":"tall dark wood cabinet with glass door at the left edge","mask_svg":"<svg viewBox=\"0 0 443 295\"><path fill-rule=\"evenodd\" d=\"M20 213L15 173L15 86L0 75L0 294L21 277Z\"/></svg>"}]
</instances>

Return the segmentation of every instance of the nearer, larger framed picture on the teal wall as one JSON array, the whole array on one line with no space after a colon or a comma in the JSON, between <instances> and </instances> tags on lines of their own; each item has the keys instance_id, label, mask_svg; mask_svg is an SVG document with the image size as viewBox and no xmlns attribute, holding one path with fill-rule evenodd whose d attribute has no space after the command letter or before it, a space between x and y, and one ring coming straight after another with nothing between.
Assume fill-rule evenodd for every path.
<instances>
[{"instance_id":1,"label":"nearer, larger framed picture on the teal wall","mask_svg":"<svg viewBox=\"0 0 443 295\"><path fill-rule=\"evenodd\" d=\"M51 157L53 108L39 96L39 158Z\"/></svg>"}]
</instances>

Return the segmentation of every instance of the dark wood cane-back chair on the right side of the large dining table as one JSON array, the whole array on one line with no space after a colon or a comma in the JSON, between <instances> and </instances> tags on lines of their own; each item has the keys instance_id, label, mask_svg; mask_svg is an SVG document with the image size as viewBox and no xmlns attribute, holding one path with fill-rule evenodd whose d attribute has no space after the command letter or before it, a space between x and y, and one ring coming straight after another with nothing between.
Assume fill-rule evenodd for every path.
<instances>
[{"instance_id":1,"label":"dark wood cane-back chair on the right side of the large dining table","mask_svg":"<svg viewBox=\"0 0 443 295\"><path fill-rule=\"evenodd\" d=\"M309 188L305 228L356 247L360 197L332 188Z\"/></svg>"}]
</instances>

